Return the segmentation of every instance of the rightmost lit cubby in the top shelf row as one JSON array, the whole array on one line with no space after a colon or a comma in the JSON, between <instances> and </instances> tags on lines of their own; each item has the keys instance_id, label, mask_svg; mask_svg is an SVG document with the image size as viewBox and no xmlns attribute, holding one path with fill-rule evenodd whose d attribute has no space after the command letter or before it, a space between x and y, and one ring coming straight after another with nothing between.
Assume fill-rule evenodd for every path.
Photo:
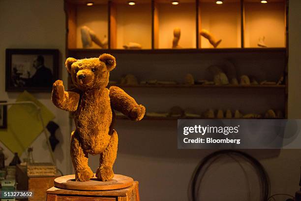
<instances>
[{"instance_id":1,"label":"rightmost lit cubby in the top shelf row","mask_svg":"<svg viewBox=\"0 0 301 201\"><path fill-rule=\"evenodd\" d=\"M244 0L244 47L286 46L286 4L284 0Z\"/></svg>"}]
</instances>

